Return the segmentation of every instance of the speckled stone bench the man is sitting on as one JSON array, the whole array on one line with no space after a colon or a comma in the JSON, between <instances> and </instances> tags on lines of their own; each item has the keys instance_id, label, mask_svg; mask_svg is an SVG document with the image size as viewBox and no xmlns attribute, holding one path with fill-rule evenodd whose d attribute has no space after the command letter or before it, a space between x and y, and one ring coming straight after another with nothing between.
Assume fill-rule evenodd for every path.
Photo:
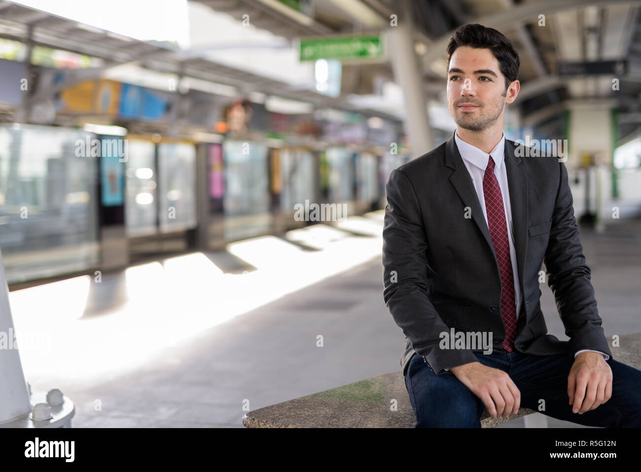
<instances>
[{"instance_id":1,"label":"speckled stone bench the man is sitting on","mask_svg":"<svg viewBox=\"0 0 641 472\"><path fill-rule=\"evenodd\" d=\"M641 333L622 335L620 346L610 350L615 360L641 369ZM532 413L520 408L503 418L485 410L481 428ZM397 371L247 412L242 423L247 428L413 428L416 417L403 373Z\"/></svg>"}]
</instances>

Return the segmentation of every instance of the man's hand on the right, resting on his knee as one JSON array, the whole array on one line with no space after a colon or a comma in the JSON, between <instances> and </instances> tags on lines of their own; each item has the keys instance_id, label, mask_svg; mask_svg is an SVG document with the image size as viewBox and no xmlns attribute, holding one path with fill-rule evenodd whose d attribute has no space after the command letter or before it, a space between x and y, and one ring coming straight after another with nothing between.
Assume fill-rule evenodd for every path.
<instances>
[{"instance_id":1,"label":"man's hand on the right, resting on his knee","mask_svg":"<svg viewBox=\"0 0 641 472\"><path fill-rule=\"evenodd\" d=\"M582 352L575 359L567 377L567 394L572 412L579 415L594 410L612 397L612 369L603 354Z\"/></svg>"}]
</instances>

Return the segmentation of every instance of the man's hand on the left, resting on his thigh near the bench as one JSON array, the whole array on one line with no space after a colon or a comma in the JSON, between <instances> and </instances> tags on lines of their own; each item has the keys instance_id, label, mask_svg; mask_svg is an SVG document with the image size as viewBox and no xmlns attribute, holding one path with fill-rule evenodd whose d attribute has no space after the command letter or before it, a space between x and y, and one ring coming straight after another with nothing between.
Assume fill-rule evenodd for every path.
<instances>
[{"instance_id":1,"label":"man's hand on the left, resting on his thigh near the bench","mask_svg":"<svg viewBox=\"0 0 641 472\"><path fill-rule=\"evenodd\" d=\"M462 366L450 367L449 371L473 394L483 400L490 416L500 414L506 418L510 412L519 411L519 389L510 376L501 369L485 366L481 362L469 362Z\"/></svg>"}]
</instances>

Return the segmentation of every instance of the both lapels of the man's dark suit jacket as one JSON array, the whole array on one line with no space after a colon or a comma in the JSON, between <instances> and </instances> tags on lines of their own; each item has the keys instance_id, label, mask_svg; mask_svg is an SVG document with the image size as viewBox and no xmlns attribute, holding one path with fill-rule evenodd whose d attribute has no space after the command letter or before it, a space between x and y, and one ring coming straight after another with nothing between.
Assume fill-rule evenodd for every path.
<instances>
[{"instance_id":1,"label":"both lapels of the man's dark suit jacket","mask_svg":"<svg viewBox=\"0 0 641 472\"><path fill-rule=\"evenodd\" d=\"M528 180L524 170L519 165L520 163L521 158L515 156L512 142L506 139L504 164L508 176L510 205L512 207L512 228L517 253L517 273L519 274L522 290L525 257L528 249ZM494 261L496 261L490 230L488 230L485 217L483 217L483 210L481 210L481 203L476 194L476 189L474 189L472 178L470 178L470 174L467 172L467 168L463 164L463 159L456 147L454 133L445 144L445 165L454 169L454 173L449 176L449 180L463 200L465 207L471 208L472 219L474 219L476 226L483 234L488 249L490 249L490 253L494 256Z\"/></svg>"}]
</instances>

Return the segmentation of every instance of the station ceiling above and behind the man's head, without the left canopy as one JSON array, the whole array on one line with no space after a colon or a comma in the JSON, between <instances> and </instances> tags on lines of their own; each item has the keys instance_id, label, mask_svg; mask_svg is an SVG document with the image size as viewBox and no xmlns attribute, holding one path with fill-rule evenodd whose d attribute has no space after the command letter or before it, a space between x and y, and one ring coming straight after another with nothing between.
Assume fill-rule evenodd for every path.
<instances>
[{"instance_id":1,"label":"station ceiling above and behind the man's head, without the left canopy","mask_svg":"<svg viewBox=\"0 0 641 472\"><path fill-rule=\"evenodd\" d=\"M249 14L259 28L294 40L301 36L385 30L401 15L399 0L316 0L313 22L272 8L273 0L196 0L219 12ZM612 99L619 108L619 141L641 135L641 2L612 0L425 0L407 1L422 43L420 56L428 96L444 100L445 45L463 24L478 22L508 37L521 59L516 105L525 124L560 135L568 101ZM544 15L543 21L541 15ZM627 60L628 71L612 76L560 76L558 62ZM358 67L361 76L393 77L389 63ZM373 70L373 71L372 71Z\"/></svg>"}]
</instances>

